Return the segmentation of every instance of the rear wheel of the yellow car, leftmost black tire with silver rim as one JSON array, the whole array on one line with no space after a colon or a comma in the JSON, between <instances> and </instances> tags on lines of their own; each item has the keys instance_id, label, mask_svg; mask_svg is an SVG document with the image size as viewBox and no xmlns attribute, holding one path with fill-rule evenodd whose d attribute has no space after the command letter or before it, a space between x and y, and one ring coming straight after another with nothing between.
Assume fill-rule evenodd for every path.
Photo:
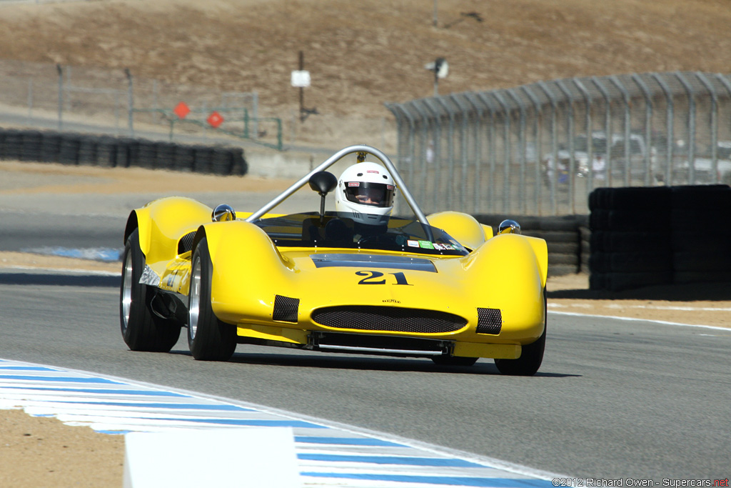
<instances>
[{"instance_id":1,"label":"rear wheel of the yellow car, leftmost black tire with silver rim","mask_svg":"<svg viewBox=\"0 0 731 488\"><path fill-rule=\"evenodd\" d=\"M119 292L119 323L122 338L131 350L167 353L181 334L181 325L159 318L149 307L153 293L140 283L145 255L135 229L127 238L122 255L122 280Z\"/></svg>"}]
</instances>

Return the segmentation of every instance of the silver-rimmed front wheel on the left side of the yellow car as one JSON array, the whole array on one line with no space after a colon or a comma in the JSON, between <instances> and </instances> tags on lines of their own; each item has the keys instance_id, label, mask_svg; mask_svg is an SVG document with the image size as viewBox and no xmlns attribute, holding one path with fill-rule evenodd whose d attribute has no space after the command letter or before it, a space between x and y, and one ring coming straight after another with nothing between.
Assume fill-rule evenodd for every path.
<instances>
[{"instance_id":1,"label":"silver-rimmed front wheel on the left side of the yellow car","mask_svg":"<svg viewBox=\"0 0 731 488\"><path fill-rule=\"evenodd\" d=\"M236 327L221 322L211 308L213 263L208 241L193 252L188 292L188 346L199 361L228 361L236 349Z\"/></svg>"}]
</instances>

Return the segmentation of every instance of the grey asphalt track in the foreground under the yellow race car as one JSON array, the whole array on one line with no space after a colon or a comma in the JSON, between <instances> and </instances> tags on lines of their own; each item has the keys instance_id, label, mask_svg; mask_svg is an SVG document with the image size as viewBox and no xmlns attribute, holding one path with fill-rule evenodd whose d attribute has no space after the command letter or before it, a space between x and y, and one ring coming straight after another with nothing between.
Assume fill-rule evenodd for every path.
<instances>
[{"instance_id":1,"label":"grey asphalt track in the foreground under the yellow race car","mask_svg":"<svg viewBox=\"0 0 731 488\"><path fill-rule=\"evenodd\" d=\"M0 270L0 357L186 388L591 478L726 478L731 332L550 315L534 378L491 361L239 346L232 361L132 353L116 277Z\"/></svg>"}]
</instances>

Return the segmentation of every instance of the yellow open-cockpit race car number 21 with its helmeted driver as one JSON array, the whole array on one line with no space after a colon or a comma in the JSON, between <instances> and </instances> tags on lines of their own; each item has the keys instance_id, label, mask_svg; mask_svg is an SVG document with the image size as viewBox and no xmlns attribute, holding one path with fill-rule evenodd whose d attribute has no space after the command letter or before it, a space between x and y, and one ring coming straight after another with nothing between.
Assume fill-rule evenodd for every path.
<instances>
[{"instance_id":1,"label":"yellow open-cockpit race car number 21 with its helmeted driver","mask_svg":"<svg viewBox=\"0 0 731 488\"><path fill-rule=\"evenodd\" d=\"M326 171L351 155L339 179ZM307 184L319 211L271 213ZM333 192L336 211L325 211ZM413 218L391 215L397 192ZM492 358L503 374L534 375L543 358L545 241L512 220L493 236L468 214L425 216L371 146L338 151L252 213L154 200L129 214L124 243L132 350L169 351L185 327L192 356L208 361L259 344L441 365Z\"/></svg>"}]
</instances>

